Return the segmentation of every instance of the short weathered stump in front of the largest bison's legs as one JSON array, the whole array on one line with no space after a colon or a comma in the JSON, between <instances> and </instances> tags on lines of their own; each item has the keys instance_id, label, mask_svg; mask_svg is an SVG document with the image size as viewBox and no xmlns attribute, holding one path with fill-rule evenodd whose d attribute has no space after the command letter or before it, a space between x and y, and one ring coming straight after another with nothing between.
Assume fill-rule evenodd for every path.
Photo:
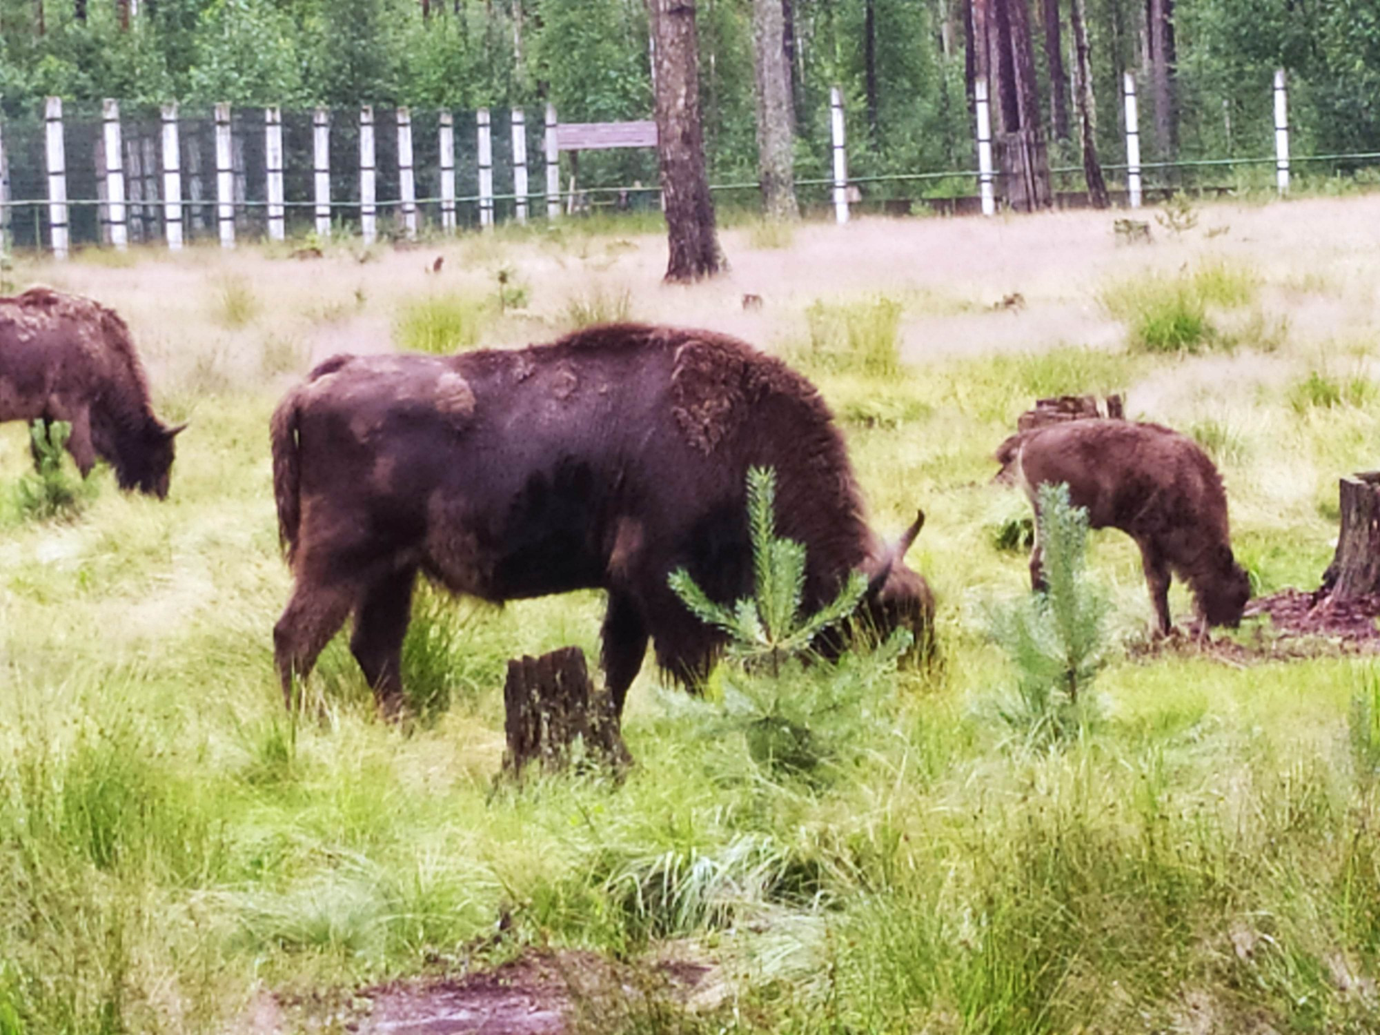
<instances>
[{"instance_id":1,"label":"short weathered stump in front of the largest bison's legs","mask_svg":"<svg viewBox=\"0 0 1380 1035\"><path fill-rule=\"evenodd\" d=\"M614 769L632 762L613 698L589 684L580 647L509 661L504 708L505 774L518 776L529 762L540 762L548 773L566 769L580 755L577 742L585 758Z\"/></svg>"}]
</instances>

